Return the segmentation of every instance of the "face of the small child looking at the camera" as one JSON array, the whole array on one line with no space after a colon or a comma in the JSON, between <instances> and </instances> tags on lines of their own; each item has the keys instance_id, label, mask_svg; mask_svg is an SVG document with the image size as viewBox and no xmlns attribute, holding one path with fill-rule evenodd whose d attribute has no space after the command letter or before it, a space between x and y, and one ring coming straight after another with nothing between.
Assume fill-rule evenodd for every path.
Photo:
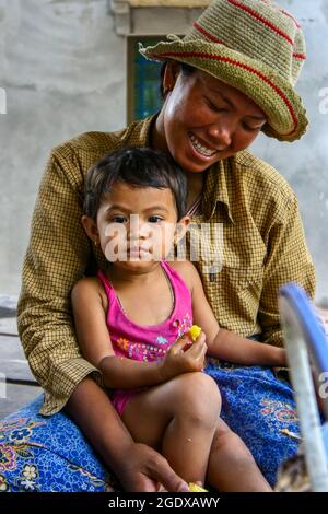
<instances>
[{"instance_id":1,"label":"face of the small child looking at the camera","mask_svg":"<svg viewBox=\"0 0 328 514\"><path fill-rule=\"evenodd\" d=\"M179 229L186 230L188 223L189 219L184 218ZM150 262L167 256L176 229L177 212L169 189L117 183L97 212L96 241L110 262L129 269L144 269Z\"/></svg>"}]
</instances>

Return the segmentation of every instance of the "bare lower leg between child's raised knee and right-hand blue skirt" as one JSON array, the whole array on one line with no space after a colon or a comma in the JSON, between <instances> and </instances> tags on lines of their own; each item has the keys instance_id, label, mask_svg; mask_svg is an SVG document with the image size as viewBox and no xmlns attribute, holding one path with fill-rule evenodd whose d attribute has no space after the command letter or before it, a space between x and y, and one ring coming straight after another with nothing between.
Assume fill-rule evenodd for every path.
<instances>
[{"instance_id":1,"label":"bare lower leg between child's raised knee and right-hand blue skirt","mask_svg":"<svg viewBox=\"0 0 328 514\"><path fill-rule=\"evenodd\" d=\"M247 446L221 419L210 452L208 481L219 491L272 492Z\"/></svg>"}]
</instances>

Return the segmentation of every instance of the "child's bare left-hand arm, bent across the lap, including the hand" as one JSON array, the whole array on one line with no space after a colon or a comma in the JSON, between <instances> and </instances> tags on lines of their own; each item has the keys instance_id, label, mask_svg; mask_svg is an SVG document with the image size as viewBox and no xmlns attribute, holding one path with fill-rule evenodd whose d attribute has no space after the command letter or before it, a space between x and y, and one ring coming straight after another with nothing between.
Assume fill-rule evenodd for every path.
<instances>
[{"instance_id":1,"label":"child's bare left-hand arm, bent across the lap, including the hand","mask_svg":"<svg viewBox=\"0 0 328 514\"><path fill-rule=\"evenodd\" d=\"M78 341L83 357L103 373L104 385L130 389L149 387L173 376L200 371L206 353L204 338L184 351L188 338L179 339L167 351L163 361L139 362L114 352L106 325L106 313L95 279L82 279L71 293Z\"/></svg>"}]
</instances>

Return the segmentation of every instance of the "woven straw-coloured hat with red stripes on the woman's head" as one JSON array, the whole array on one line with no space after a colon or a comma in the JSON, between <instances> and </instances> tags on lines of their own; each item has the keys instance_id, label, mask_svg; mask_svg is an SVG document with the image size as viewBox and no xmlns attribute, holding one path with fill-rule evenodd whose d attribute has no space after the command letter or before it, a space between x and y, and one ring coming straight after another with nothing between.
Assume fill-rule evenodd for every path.
<instances>
[{"instance_id":1,"label":"woven straw-coloured hat with red stripes on the woman's head","mask_svg":"<svg viewBox=\"0 0 328 514\"><path fill-rule=\"evenodd\" d=\"M294 141L306 131L294 91L306 58L297 21L270 0L214 0L180 39L143 48L151 60L173 59L210 73L249 96L268 116L263 132Z\"/></svg>"}]
</instances>

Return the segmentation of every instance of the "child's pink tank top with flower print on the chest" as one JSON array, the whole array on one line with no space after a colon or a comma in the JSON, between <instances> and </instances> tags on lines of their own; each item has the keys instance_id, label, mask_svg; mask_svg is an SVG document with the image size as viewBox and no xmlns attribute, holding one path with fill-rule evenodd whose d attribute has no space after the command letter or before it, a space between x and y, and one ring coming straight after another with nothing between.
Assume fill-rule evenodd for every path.
<instances>
[{"instance_id":1,"label":"child's pink tank top with flower print on the chest","mask_svg":"<svg viewBox=\"0 0 328 514\"><path fill-rule=\"evenodd\" d=\"M108 297L106 320L116 355L144 362L161 360L166 350L191 327L192 308L189 289L167 262L162 261L161 266L171 283L174 306L169 317L155 326L140 326L130 320L124 313L109 280L103 271L97 272Z\"/></svg>"}]
</instances>

